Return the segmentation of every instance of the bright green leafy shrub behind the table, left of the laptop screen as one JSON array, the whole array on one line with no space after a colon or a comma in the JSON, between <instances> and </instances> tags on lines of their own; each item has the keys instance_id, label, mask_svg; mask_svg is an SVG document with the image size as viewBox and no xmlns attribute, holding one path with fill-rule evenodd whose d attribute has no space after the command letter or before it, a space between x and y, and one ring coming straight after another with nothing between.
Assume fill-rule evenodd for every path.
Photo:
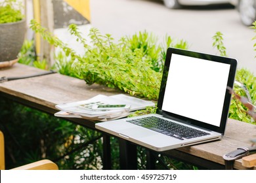
<instances>
[{"instance_id":1,"label":"bright green leafy shrub behind the table, left of the laptop screen","mask_svg":"<svg viewBox=\"0 0 256 183\"><path fill-rule=\"evenodd\" d=\"M154 39L146 31L131 38L122 37L115 42L110 35L101 35L98 29L92 28L89 33L91 42L88 42L81 37L76 25L72 24L70 33L85 48L85 55L79 56L37 22L32 20L31 24L34 31L50 44L60 47L66 56L75 61L72 65L74 72L87 84L97 83L139 97L158 98L161 81L159 71L164 58L161 57L161 47L153 44ZM187 47L185 41L178 44L173 44L170 38L167 41L169 45Z\"/></svg>"}]
</instances>

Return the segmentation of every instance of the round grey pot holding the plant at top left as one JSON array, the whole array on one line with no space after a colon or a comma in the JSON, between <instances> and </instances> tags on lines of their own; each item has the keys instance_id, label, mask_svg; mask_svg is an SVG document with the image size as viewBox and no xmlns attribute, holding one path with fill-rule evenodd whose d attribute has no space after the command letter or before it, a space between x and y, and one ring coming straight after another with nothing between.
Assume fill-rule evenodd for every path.
<instances>
[{"instance_id":1,"label":"round grey pot holding the plant at top left","mask_svg":"<svg viewBox=\"0 0 256 183\"><path fill-rule=\"evenodd\" d=\"M0 24L0 61L16 59L24 42L26 20Z\"/></svg>"}]
</instances>

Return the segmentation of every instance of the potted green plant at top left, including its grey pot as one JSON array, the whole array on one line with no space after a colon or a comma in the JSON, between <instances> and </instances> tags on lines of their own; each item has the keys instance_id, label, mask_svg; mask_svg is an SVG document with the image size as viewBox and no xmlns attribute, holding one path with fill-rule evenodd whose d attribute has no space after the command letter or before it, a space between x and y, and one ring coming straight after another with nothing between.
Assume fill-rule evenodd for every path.
<instances>
[{"instance_id":1,"label":"potted green plant at top left, including its grey pot","mask_svg":"<svg viewBox=\"0 0 256 183\"><path fill-rule=\"evenodd\" d=\"M26 20L22 13L22 1L0 1L0 65L14 61L22 48Z\"/></svg>"}]
</instances>

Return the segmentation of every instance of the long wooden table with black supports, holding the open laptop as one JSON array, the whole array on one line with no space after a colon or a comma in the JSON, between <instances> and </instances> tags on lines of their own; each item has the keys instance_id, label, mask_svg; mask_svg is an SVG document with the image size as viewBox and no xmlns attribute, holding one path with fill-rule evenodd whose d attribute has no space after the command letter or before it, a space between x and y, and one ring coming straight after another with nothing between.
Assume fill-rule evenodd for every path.
<instances>
[{"instance_id":1,"label":"long wooden table with black supports, holding the open laptop","mask_svg":"<svg viewBox=\"0 0 256 183\"><path fill-rule=\"evenodd\" d=\"M9 69L1 69L0 78L2 76L24 76L43 72L45 71L16 63ZM86 100L98 94L114 95L117 93L120 92L99 86L98 84L89 86L85 84L83 80L60 75L58 73L0 83L1 97L9 97L14 99L14 101L51 114L58 111L55 108L56 104ZM95 122L79 118L70 118L68 120L95 129ZM108 134L106 135L108 136ZM236 150L236 148L240 146L250 146L251 143L249 139L255 138L255 135L255 125L228 119L225 135L221 141L182 147L162 153L209 169L224 169L223 155ZM108 141L109 139L106 138L104 140ZM109 148L107 144L108 143L106 143L106 147ZM120 140L120 147L121 168L134 169L136 167L136 158L134 157L136 144ZM105 151L109 151L108 148L106 148ZM133 150L133 153L131 153L130 150ZM156 152L149 151L148 157L155 153ZM128 156L127 154L133 154L133 156ZM108 156L110 156L110 154L108 154ZM106 159L105 161L105 165L109 168L108 163L110 162ZM148 161L150 161L150 158ZM154 163L148 165L148 169L151 168L154 168ZM234 162L234 169L245 169L245 167L242 166L241 159Z\"/></svg>"}]
</instances>

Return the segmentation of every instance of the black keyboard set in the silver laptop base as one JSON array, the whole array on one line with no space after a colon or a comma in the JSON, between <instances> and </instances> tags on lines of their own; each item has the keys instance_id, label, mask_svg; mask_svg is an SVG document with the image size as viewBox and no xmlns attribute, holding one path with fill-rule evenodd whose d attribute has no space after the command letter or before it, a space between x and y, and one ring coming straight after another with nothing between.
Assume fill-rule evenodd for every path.
<instances>
[{"instance_id":1,"label":"black keyboard set in the silver laptop base","mask_svg":"<svg viewBox=\"0 0 256 183\"><path fill-rule=\"evenodd\" d=\"M180 140L192 139L194 137L201 137L210 134L192 127L164 120L163 118L157 118L156 116L127 120L127 122L158 131Z\"/></svg>"}]
</instances>

